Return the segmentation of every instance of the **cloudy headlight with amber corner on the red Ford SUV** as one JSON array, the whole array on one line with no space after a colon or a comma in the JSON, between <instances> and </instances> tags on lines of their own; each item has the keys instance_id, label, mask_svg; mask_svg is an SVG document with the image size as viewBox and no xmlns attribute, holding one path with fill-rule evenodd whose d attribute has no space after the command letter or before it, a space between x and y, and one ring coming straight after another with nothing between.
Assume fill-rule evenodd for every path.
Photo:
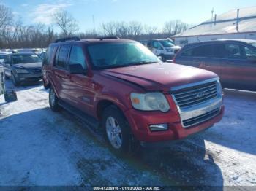
<instances>
[{"instance_id":1,"label":"cloudy headlight with amber corner on the red Ford SUV","mask_svg":"<svg viewBox=\"0 0 256 191\"><path fill-rule=\"evenodd\" d=\"M135 109L143 111L167 112L170 106L165 95L159 92L155 93L131 93L132 106Z\"/></svg>"}]
</instances>

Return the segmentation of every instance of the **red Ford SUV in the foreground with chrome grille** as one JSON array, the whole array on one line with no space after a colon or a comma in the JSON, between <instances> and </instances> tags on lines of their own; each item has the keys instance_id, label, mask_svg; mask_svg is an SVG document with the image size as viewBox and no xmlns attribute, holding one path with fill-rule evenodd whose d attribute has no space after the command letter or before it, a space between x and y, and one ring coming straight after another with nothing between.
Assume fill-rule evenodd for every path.
<instances>
[{"instance_id":1,"label":"red Ford SUV in the foreground with chrome grille","mask_svg":"<svg viewBox=\"0 0 256 191\"><path fill-rule=\"evenodd\" d=\"M217 74L162 63L131 40L59 39L48 47L42 72L50 108L102 128L122 152L140 141L183 139L224 112Z\"/></svg>"}]
</instances>

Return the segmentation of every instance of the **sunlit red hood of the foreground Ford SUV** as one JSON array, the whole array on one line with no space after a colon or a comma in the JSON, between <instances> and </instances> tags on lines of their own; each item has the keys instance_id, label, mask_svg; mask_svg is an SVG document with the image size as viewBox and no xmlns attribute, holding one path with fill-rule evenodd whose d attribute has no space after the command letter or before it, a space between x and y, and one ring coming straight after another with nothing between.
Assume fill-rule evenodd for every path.
<instances>
[{"instance_id":1,"label":"sunlit red hood of the foreground Ford SUV","mask_svg":"<svg viewBox=\"0 0 256 191\"><path fill-rule=\"evenodd\" d=\"M105 69L101 74L123 79L147 91L170 91L171 87L218 77L211 71L173 63Z\"/></svg>"}]
</instances>

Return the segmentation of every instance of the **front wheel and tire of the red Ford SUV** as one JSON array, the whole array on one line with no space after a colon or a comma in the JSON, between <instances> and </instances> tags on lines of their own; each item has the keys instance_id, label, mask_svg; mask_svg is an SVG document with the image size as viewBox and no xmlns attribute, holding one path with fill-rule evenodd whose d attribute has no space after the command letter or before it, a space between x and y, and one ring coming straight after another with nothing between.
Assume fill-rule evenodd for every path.
<instances>
[{"instance_id":1,"label":"front wheel and tire of the red Ford SUV","mask_svg":"<svg viewBox=\"0 0 256 191\"><path fill-rule=\"evenodd\" d=\"M135 140L127 119L116 106L108 106L104 110L102 128L105 140L115 152L135 153L140 149L140 142Z\"/></svg>"}]
</instances>

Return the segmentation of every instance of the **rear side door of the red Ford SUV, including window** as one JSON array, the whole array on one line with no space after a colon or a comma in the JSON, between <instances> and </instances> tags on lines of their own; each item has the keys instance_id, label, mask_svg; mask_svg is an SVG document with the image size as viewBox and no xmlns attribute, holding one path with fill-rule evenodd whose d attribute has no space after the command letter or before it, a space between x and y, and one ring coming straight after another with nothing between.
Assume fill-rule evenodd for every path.
<instances>
[{"instance_id":1,"label":"rear side door of the red Ford SUV, including window","mask_svg":"<svg viewBox=\"0 0 256 191\"><path fill-rule=\"evenodd\" d=\"M55 61L53 63L53 82L55 90L59 97L67 102L70 102L68 96L70 88L70 75L67 70L67 58L69 55L70 46L67 44L61 45L57 50Z\"/></svg>"}]
</instances>

